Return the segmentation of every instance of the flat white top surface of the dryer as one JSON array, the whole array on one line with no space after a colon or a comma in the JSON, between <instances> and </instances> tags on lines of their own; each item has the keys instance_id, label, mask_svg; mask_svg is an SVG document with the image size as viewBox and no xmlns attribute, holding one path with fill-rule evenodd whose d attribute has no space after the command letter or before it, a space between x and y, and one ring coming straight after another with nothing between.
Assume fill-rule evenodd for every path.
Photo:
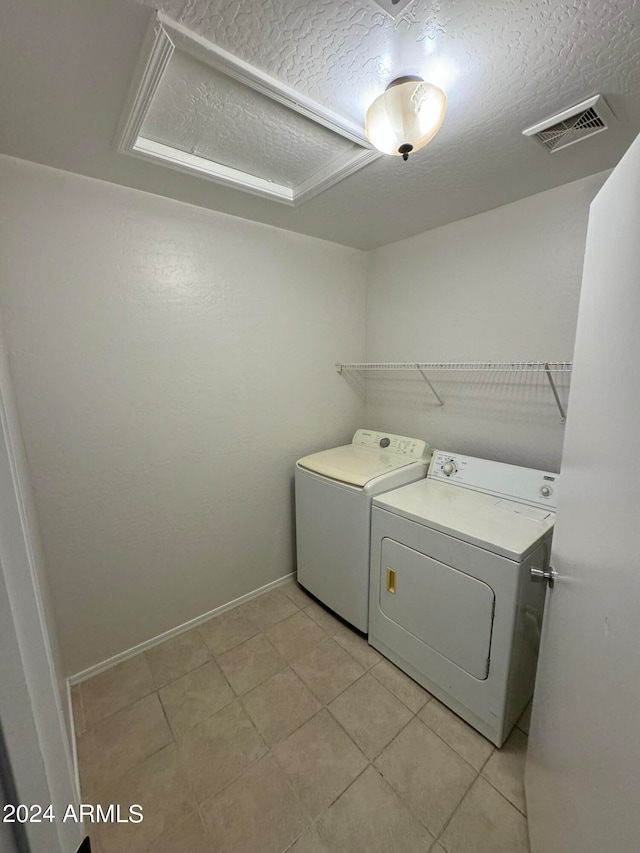
<instances>
[{"instance_id":1,"label":"flat white top surface of the dryer","mask_svg":"<svg viewBox=\"0 0 640 853\"><path fill-rule=\"evenodd\" d=\"M418 480L374 506L520 562L552 528L555 513L471 489Z\"/></svg>"}]
</instances>

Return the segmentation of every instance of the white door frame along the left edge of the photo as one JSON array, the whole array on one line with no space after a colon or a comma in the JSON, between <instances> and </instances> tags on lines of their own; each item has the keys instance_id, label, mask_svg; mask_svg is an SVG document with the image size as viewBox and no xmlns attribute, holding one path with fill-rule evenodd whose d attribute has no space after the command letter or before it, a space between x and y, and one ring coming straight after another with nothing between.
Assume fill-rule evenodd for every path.
<instances>
[{"instance_id":1,"label":"white door frame along the left edge of the photo","mask_svg":"<svg viewBox=\"0 0 640 853\"><path fill-rule=\"evenodd\" d=\"M56 818L25 823L22 849L73 853L84 830L62 822L66 806L77 806L79 792L30 490L0 325L0 725L10 766L5 774L20 803L43 809L51 804Z\"/></svg>"}]
</instances>

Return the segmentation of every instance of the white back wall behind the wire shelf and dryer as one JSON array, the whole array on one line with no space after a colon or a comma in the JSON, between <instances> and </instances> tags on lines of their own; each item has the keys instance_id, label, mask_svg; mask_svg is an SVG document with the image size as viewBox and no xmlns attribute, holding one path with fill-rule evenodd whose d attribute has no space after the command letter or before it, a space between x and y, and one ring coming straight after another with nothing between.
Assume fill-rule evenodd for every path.
<instances>
[{"instance_id":1,"label":"white back wall behind the wire shelf and dryer","mask_svg":"<svg viewBox=\"0 0 640 853\"><path fill-rule=\"evenodd\" d=\"M588 206L605 177L370 252L367 360L571 360ZM369 380L366 422L441 449L559 469L564 427L543 376L508 387L494 375L443 378L443 409L419 376Z\"/></svg>"}]
</instances>

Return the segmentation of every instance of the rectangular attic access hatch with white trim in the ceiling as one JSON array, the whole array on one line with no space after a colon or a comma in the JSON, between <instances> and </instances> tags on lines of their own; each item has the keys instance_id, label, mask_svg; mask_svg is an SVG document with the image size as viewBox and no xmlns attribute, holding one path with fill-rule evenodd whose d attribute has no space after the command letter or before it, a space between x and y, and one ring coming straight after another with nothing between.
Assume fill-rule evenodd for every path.
<instances>
[{"instance_id":1,"label":"rectangular attic access hatch with white trim in the ceiling","mask_svg":"<svg viewBox=\"0 0 640 853\"><path fill-rule=\"evenodd\" d=\"M117 148L297 205L380 155L362 128L158 13Z\"/></svg>"}]
</instances>

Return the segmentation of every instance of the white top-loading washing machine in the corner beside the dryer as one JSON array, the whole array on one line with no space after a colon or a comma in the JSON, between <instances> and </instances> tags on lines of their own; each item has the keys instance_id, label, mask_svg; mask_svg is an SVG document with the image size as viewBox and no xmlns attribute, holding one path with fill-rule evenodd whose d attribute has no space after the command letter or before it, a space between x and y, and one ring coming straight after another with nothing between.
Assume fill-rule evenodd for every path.
<instances>
[{"instance_id":1,"label":"white top-loading washing machine in the corner beside the dryer","mask_svg":"<svg viewBox=\"0 0 640 853\"><path fill-rule=\"evenodd\" d=\"M351 444L295 467L298 582L360 631L369 622L371 500L424 479L420 439L359 429Z\"/></svg>"}]
</instances>

